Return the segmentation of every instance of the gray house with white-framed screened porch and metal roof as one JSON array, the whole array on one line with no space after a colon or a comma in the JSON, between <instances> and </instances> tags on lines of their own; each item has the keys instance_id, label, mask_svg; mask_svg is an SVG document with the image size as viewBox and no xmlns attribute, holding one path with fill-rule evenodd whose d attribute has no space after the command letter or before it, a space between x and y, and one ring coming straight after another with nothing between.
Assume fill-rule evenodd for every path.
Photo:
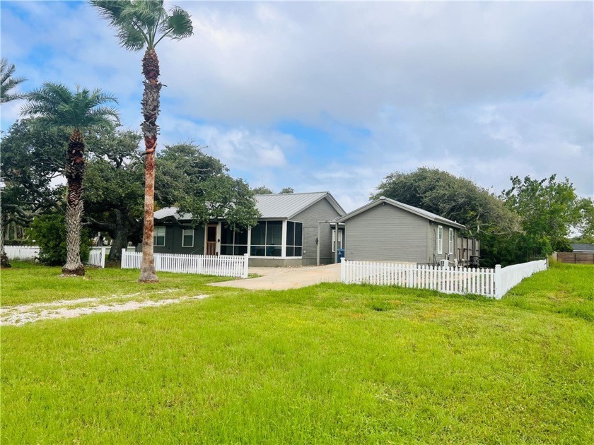
<instances>
[{"instance_id":1,"label":"gray house with white-framed screened porch and metal roof","mask_svg":"<svg viewBox=\"0 0 594 445\"><path fill-rule=\"evenodd\" d=\"M243 255L250 266L306 266L332 263L330 221L345 215L327 191L257 195L257 225L233 232L225 220L192 228L192 215L177 208L155 212L154 251L169 254ZM339 239L342 232L339 230ZM138 248L137 248L138 249ZM141 249L140 249L141 250Z\"/></svg>"}]
</instances>

